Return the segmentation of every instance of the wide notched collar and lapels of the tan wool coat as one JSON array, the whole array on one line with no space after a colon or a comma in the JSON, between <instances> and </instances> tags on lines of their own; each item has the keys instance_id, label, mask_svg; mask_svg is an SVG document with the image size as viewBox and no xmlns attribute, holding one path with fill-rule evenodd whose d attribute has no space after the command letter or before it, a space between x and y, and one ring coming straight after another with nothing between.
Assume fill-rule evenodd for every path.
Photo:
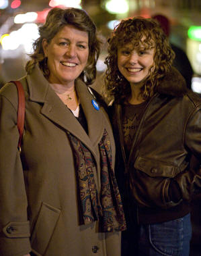
<instances>
[{"instance_id":1,"label":"wide notched collar and lapels of the tan wool coat","mask_svg":"<svg viewBox=\"0 0 201 256\"><path fill-rule=\"evenodd\" d=\"M95 154L94 147L99 143L100 138L102 138L104 123L102 111L96 110L93 107L91 103L93 97L89 93L85 83L81 80L77 80L75 87L87 119L88 136L71 111L63 104L56 93L54 93L48 80L44 78L38 66L34 68L32 74L27 76L27 80L30 91L30 101L43 104L41 113L67 132L71 132L74 136L79 138L89 150Z\"/></svg>"}]
</instances>

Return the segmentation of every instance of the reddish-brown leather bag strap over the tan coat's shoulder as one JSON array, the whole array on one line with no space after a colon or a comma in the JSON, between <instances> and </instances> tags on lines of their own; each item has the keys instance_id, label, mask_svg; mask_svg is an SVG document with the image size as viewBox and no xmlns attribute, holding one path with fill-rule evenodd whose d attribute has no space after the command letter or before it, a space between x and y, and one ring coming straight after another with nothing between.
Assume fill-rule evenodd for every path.
<instances>
[{"instance_id":1,"label":"reddish-brown leather bag strap over the tan coat's shoulder","mask_svg":"<svg viewBox=\"0 0 201 256\"><path fill-rule=\"evenodd\" d=\"M18 108L17 108L17 128L19 131L19 140L18 140L18 149L19 153L21 153L21 145L22 145L22 136L24 132L24 118L25 118L25 95L24 88L19 81L10 81L15 84L17 87L17 95L18 95Z\"/></svg>"}]
</instances>

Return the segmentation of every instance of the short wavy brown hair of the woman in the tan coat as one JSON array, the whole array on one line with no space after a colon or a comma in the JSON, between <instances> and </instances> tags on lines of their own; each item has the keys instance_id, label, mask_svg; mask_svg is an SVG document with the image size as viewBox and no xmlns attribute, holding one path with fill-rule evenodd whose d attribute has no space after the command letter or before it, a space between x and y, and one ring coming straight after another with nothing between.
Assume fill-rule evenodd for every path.
<instances>
[{"instance_id":1,"label":"short wavy brown hair of the woman in the tan coat","mask_svg":"<svg viewBox=\"0 0 201 256\"><path fill-rule=\"evenodd\" d=\"M46 39L50 43L54 36L67 25L85 31L89 36L89 58L87 66L79 78L86 84L91 84L96 77L96 63L102 41L98 39L97 29L91 18L84 10L77 8L54 7L48 12L45 24L39 28L40 36L33 43L34 53L30 55L30 60L26 63L26 72L30 74L38 64L44 76L48 79L50 71L46 65L47 59L42 48L42 41Z\"/></svg>"}]
</instances>

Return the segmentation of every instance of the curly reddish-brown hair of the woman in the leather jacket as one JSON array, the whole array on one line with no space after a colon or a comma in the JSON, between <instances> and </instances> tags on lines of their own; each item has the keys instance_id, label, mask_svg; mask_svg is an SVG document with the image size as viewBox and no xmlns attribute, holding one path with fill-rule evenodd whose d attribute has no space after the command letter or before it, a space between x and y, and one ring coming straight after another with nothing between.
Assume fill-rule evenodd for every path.
<instances>
[{"instance_id":1,"label":"curly reddish-brown hair of the woman in the leather jacket","mask_svg":"<svg viewBox=\"0 0 201 256\"><path fill-rule=\"evenodd\" d=\"M153 66L149 69L149 76L141 88L143 99L151 97L161 78L171 69L175 57L160 24L151 18L142 17L122 20L114 28L108 44L105 97L125 101L130 96L130 83L118 70L118 48L126 44L132 45L133 49L138 49L140 45L145 49L155 49Z\"/></svg>"}]
</instances>

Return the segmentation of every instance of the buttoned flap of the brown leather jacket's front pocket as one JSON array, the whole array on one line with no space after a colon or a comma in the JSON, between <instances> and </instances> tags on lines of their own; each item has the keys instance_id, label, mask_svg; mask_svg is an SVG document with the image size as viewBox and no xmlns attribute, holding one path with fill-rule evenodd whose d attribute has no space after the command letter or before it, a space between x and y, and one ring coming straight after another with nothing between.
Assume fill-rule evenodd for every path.
<instances>
[{"instance_id":1,"label":"buttoned flap of the brown leather jacket's front pocket","mask_svg":"<svg viewBox=\"0 0 201 256\"><path fill-rule=\"evenodd\" d=\"M150 177L173 178L178 171L177 166L145 157L138 157L134 163L134 168L145 172Z\"/></svg>"}]
</instances>

